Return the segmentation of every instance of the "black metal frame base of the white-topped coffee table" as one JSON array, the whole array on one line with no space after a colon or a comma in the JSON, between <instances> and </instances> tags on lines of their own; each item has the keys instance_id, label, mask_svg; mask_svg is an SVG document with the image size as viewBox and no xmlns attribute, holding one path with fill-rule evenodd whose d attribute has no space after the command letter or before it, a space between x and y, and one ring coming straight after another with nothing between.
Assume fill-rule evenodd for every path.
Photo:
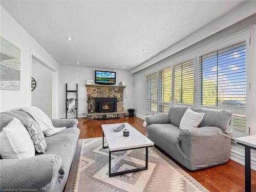
<instances>
[{"instance_id":1,"label":"black metal frame base of the white-topped coffee table","mask_svg":"<svg viewBox=\"0 0 256 192\"><path fill-rule=\"evenodd\" d=\"M102 148L109 148L109 146L104 146L104 132L102 131ZM116 172L116 173L111 173L111 153L114 152L122 152L122 151L127 151L127 150L136 150L138 148L145 148L146 154L145 154L145 166L144 167L139 167L139 168L134 168L130 170L123 170L122 172ZM139 172L141 170L147 170L148 168L148 147L136 147L136 148L129 148L125 150L117 150L117 151L109 151L109 177L115 177L118 175L124 175L124 174L130 174L133 172Z\"/></svg>"}]
</instances>

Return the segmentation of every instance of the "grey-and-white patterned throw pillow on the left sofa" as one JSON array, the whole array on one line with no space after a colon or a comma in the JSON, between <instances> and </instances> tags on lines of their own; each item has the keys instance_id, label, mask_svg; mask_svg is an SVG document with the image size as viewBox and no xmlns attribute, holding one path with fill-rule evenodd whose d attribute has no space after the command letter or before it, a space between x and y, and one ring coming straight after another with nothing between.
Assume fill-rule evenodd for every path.
<instances>
[{"instance_id":1,"label":"grey-and-white patterned throw pillow on the left sofa","mask_svg":"<svg viewBox=\"0 0 256 192\"><path fill-rule=\"evenodd\" d=\"M35 147L35 151L37 151L38 153L45 153L46 139L44 133L42 133L42 131L40 130L37 122L35 122L35 120L31 119L30 117L26 117L24 119L24 126L29 132L29 135Z\"/></svg>"}]
</instances>

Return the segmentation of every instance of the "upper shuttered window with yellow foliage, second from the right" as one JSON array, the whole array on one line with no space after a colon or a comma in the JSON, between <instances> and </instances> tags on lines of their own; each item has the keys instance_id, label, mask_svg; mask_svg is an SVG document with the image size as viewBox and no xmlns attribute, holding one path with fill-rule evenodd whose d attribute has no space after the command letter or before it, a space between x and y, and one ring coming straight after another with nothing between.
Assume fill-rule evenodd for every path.
<instances>
[{"instance_id":1,"label":"upper shuttered window with yellow foliage, second from the right","mask_svg":"<svg viewBox=\"0 0 256 192\"><path fill-rule=\"evenodd\" d=\"M194 59L174 66L174 102L194 104Z\"/></svg>"}]
</instances>

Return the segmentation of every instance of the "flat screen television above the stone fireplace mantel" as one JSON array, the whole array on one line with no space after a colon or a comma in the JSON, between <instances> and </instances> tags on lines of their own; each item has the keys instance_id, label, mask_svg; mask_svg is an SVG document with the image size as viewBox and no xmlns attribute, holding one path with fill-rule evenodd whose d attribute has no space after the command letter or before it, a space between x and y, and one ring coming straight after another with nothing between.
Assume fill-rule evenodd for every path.
<instances>
[{"instance_id":1,"label":"flat screen television above the stone fireplace mantel","mask_svg":"<svg viewBox=\"0 0 256 192\"><path fill-rule=\"evenodd\" d=\"M95 83L97 83L97 84L116 84L116 72L95 71Z\"/></svg>"}]
</instances>

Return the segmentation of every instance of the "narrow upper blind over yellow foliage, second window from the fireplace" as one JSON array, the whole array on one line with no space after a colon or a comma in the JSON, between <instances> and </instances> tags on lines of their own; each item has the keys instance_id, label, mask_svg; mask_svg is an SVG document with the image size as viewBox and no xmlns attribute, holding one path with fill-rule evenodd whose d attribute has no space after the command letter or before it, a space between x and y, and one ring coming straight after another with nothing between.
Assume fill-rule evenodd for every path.
<instances>
[{"instance_id":1,"label":"narrow upper blind over yellow foliage, second window from the fireplace","mask_svg":"<svg viewBox=\"0 0 256 192\"><path fill-rule=\"evenodd\" d=\"M158 73L158 95L160 102L172 102L172 67Z\"/></svg>"}]
</instances>

